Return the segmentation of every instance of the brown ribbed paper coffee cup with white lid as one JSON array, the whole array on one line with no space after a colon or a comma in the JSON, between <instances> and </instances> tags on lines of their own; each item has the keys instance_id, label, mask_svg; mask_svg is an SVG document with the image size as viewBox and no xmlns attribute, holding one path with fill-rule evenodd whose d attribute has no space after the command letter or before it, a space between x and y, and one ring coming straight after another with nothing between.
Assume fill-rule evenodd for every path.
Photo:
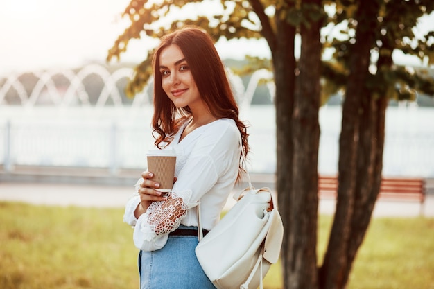
<instances>
[{"instance_id":1,"label":"brown ribbed paper coffee cup with white lid","mask_svg":"<svg viewBox=\"0 0 434 289\"><path fill-rule=\"evenodd\" d=\"M175 177L176 153L173 149L149 150L148 171L154 174L153 180L159 182L160 192L170 192Z\"/></svg>"}]
</instances>

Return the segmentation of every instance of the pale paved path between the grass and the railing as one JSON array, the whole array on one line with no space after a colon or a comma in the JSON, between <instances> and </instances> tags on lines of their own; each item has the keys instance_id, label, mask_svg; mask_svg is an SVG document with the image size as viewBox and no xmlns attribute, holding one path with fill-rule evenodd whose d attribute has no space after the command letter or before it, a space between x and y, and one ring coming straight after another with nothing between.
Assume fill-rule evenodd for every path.
<instances>
[{"instance_id":1,"label":"pale paved path between the grass and the railing","mask_svg":"<svg viewBox=\"0 0 434 289\"><path fill-rule=\"evenodd\" d=\"M258 186L259 185L259 186ZM266 183L255 187L266 186ZM238 189L238 188L236 188ZM430 189L431 190L431 189ZM62 184L53 182L0 182L0 200L26 202L29 204L45 204L79 207L123 207L134 195L134 183L127 185L103 184ZM231 207L234 200L229 198L226 208ZM320 213L332 214L336 201L321 199ZM434 217L434 194L428 191L424 208L419 202L383 201L376 203L374 216L413 216Z\"/></svg>"}]
</instances>

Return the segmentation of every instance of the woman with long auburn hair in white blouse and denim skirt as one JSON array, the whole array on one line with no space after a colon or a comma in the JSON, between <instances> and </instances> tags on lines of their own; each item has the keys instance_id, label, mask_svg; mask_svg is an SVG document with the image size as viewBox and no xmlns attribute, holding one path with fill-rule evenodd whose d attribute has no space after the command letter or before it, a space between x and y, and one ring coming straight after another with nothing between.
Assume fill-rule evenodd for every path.
<instances>
[{"instance_id":1,"label":"woman with long auburn hair in white blouse and denim skirt","mask_svg":"<svg viewBox=\"0 0 434 289\"><path fill-rule=\"evenodd\" d=\"M225 69L209 35L186 27L162 38L153 56L153 135L157 148L177 153L175 183L156 191L141 174L138 195L125 207L139 249L141 288L214 288L194 249L200 201L204 233L220 219L243 171L248 134Z\"/></svg>"}]
</instances>

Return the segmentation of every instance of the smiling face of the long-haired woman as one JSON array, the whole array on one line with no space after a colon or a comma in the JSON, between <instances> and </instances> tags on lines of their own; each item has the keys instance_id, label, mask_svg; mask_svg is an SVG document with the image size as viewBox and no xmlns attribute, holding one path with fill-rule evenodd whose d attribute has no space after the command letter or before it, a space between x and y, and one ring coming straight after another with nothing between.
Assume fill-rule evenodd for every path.
<instances>
[{"instance_id":1,"label":"smiling face of the long-haired woman","mask_svg":"<svg viewBox=\"0 0 434 289\"><path fill-rule=\"evenodd\" d=\"M176 107L194 107L203 105L198 87L191 75L189 64L179 46L172 44L162 49L159 54L159 73L162 87Z\"/></svg>"}]
</instances>

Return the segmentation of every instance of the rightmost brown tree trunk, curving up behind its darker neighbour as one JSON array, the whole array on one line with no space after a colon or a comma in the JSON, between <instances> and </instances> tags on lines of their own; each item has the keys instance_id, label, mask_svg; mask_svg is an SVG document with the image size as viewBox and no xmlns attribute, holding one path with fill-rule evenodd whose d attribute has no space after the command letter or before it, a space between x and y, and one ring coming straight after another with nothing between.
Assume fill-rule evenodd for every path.
<instances>
[{"instance_id":1,"label":"rightmost brown tree trunk, curving up behind its darker neighbour","mask_svg":"<svg viewBox=\"0 0 434 289\"><path fill-rule=\"evenodd\" d=\"M383 42L387 46L387 42ZM389 70L392 66L392 49L385 49L379 57L377 67L379 71ZM360 126L361 143L358 153L358 179L356 186L356 204L351 225L351 237L347 252L347 270L345 272L345 283L351 272L351 264L356 258L358 247L365 237L367 227L370 224L372 211L380 192L381 175L383 170L383 150L385 138L385 110L388 106L388 99L385 91L388 84L385 82L381 96L366 91L367 98L363 100L363 114Z\"/></svg>"}]
</instances>

